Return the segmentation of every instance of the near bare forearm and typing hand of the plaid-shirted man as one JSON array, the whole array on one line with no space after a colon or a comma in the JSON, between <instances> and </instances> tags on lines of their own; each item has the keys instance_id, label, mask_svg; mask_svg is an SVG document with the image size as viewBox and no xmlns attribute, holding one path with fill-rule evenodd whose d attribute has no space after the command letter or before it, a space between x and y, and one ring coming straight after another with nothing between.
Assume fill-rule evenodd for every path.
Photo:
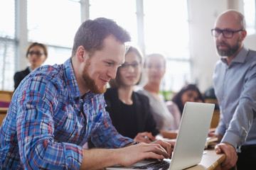
<instances>
[{"instance_id":1,"label":"near bare forearm and typing hand of the plaid-shirted man","mask_svg":"<svg viewBox=\"0 0 256 170\"><path fill-rule=\"evenodd\" d=\"M83 149L80 169L103 169L107 166L129 166L143 159L171 158L169 142L157 140L146 144L128 145L119 149Z\"/></svg>"}]
</instances>

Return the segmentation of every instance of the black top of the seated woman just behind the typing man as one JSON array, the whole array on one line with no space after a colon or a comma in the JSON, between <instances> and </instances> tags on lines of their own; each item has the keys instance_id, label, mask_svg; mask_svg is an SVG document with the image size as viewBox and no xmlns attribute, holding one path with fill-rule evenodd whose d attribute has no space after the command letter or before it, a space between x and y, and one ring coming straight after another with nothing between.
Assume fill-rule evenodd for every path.
<instances>
[{"instance_id":1,"label":"black top of the seated woman just behind the typing man","mask_svg":"<svg viewBox=\"0 0 256 170\"><path fill-rule=\"evenodd\" d=\"M133 104L127 105L119 100L117 89L107 89L104 96L106 111L110 113L112 124L121 135L134 139L139 132L152 132L154 136L159 134L149 106L149 98L133 92Z\"/></svg>"}]
</instances>

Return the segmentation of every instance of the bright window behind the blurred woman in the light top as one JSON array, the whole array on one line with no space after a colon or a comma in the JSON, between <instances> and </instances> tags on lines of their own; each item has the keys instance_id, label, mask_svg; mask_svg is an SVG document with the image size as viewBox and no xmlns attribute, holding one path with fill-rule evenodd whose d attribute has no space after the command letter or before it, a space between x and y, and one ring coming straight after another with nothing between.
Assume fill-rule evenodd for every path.
<instances>
[{"instance_id":1,"label":"bright window behind the blurred woman in the light top","mask_svg":"<svg viewBox=\"0 0 256 170\"><path fill-rule=\"evenodd\" d=\"M191 80L186 6L185 0L144 1L146 54L162 53L167 57L161 82L164 91L178 91Z\"/></svg>"}]
</instances>

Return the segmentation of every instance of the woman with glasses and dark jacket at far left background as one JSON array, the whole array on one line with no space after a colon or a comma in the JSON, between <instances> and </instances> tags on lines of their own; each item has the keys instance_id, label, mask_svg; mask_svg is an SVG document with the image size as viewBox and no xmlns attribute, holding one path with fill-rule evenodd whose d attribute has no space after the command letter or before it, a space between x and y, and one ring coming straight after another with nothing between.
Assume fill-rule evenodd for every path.
<instances>
[{"instance_id":1,"label":"woman with glasses and dark jacket at far left background","mask_svg":"<svg viewBox=\"0 0 256 170\"><path fill-rule=\"evenodd\" d=\"M46 61L47 55L47 47L44 44L33 42L28 46L26 57L30 63L30 66L23 71L16 72L14 74L14 90L17 89L18 85L29 73L31 73L34 69L41 67L43 62Z\"/></svg>"}]
</instances>

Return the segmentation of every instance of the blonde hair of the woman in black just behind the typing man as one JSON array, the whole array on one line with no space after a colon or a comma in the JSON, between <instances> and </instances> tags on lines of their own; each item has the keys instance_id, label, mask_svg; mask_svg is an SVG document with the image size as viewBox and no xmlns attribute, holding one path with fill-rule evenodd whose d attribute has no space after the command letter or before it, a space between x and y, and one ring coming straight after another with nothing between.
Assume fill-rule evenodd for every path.
<instances>
[{"instance_id":1,"label":"blonde hair of the woman in black just behind the typing man","mask_svg":"<svg viewBox=\"0 0 256 170\"><path fill-rule=\"evenodd\" d=\"M138 57L139 57L139 64L142 64L142 63L143 63L143 55L142 55L142 52L141 52L141 50L139 49L139 47L130 46L129 49L127 50L126 55L127 55L129 52L135 52L135 54L138 55ZM140 66L139 66L139 67L140 67ZM116 78L115 78L115 79L111 79L110 82L109 82L111 88L119 88L120 85L121 85L121 82L120 82L120 69L121 69L121 68L118 67ZM137 82L136 85L138 85L141 80L142 80L142 73L140 74L139 81Z\"/></svg>"}]
</instances>

